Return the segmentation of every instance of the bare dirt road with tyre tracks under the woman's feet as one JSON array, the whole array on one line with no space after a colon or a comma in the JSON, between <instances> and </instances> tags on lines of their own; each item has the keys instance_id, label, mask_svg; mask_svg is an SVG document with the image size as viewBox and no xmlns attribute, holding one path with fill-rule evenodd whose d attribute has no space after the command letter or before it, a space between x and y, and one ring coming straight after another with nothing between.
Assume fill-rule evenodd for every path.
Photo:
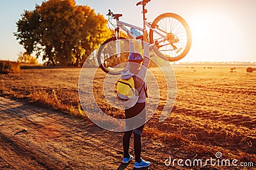
<instances>
[{"instance_id":1,"label":"bare dirt road with tyre tracks under the woman's feet","mask_svg":"<svg viewBox=\"0 0 256 170\"><path fill-rule=\"evenodd\" d=\"M166 169L164 153L156 154L160 147L145 146L148 169ZM133 161L127 166L120 160L122 133L0 97L0 169L133 169Z\"/></svg>"}]
</instances>

